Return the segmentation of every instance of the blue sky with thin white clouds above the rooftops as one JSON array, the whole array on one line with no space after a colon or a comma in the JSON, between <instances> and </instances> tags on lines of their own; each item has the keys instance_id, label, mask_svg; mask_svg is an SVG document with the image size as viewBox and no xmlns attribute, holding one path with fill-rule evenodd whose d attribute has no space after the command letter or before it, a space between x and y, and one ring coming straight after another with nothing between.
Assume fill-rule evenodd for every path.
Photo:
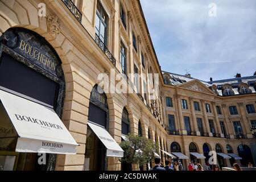
<instances>
[{"instance_id":1,"label":"blue sky with thin white clouds above the rooftops","mask_svg":"<svg viewBox=\"0 0 256 182\"><path fill-rule=\"evenodd\" d=\"M215 3L216 15L208 7ZM163 71L209 81L256 71L256 0L141 0Z\"/></svg>"}]
</instances>

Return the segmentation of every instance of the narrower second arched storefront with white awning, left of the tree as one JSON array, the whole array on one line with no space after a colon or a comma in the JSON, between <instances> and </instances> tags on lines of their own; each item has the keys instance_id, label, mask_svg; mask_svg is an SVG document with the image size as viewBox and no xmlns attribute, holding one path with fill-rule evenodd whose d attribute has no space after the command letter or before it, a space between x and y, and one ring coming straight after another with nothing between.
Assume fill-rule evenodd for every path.
<instances>
[{"instance_id":1,"label":"narrower second arched storefront with white awning, left of the tree","mask_svg":"<svg viewBox=\"0 0 256 182\"><path fill-rule=\"evenodd\" d=\"M90 93L88 126L86 134L86 171L108 170L108 157L123 157L123 150L109 134L109 108L106 94L98 85Z\"/></svg>"}]
</instances>

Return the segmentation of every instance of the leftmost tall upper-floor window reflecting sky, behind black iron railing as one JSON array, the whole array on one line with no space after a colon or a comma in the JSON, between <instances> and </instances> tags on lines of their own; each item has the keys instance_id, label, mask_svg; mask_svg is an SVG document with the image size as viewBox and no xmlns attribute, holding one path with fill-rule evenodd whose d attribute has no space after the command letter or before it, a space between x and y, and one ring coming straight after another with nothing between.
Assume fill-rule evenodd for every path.
<instances>
[{"instance_id":1,"label":"leftmost tall upper-floor window reflecting sky, behind black iron railing","mask_svg":"<svg viewBox=\"0 0 256 182\"><path fill-rule=\"evenodd\" d=\"M104 8L101 6L100 2L97 3L97 11L96 11L96 24L95 24L95 31L96 35L100 38L100 40L106 46L106 32L107 32L107 14Z\"/></svg>"}]
</instances>

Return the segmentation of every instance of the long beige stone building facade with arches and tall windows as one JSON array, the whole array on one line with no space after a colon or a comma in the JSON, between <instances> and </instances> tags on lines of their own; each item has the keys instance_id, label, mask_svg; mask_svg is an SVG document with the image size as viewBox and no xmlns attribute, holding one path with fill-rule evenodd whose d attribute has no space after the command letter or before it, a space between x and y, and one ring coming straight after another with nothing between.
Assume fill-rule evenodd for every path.
<instances>
[{"instance_id":1,"label":"long beige stone building facade with arches and tall windows","mask_svg":"<svg viewBox=\"0 0 256 182\"><path fill-rule=\"evenodd\" d=\"M217 88L214 82L192 78L173 84L173 74L160 69L138 0L1 0L0 7L0 89L54 110L75 139L73 144L79 144L76 154L53 152L43 167L38 166L36 152L8 148L15 140L6 144L7 129L16 127L1 124L0 143L7 147L0 144L0 155L15 156L12 169L121 170L122 150L104 140L120 143L128 133L159 143L163 161L170 152L178 152L180 159L184 154L184 166L195 159L190 152L207 155L217 149L228 154L229 145L230 154L238 155L240 144L246 150L255 143L250 131L256 120L251 106L255 107L255 79L251 85L242 81L247 91L252 90L248 94L234 94L231 82L222 85L229 89L221 94L222 82L216 82ZM105 77L110 82L102 85ZM121 80L125 84L118 87ZM226 92L230 96L222 96ZM195 101L199 111L194 111ZM237 106L238 114L229 115L230 110L236 113L230 106ZM0 111L0 122L9 121L5 105ZM218 159L225 166L229 161ZM146 166L134 164L131 169Z\"/></svg>"}]
</instances>

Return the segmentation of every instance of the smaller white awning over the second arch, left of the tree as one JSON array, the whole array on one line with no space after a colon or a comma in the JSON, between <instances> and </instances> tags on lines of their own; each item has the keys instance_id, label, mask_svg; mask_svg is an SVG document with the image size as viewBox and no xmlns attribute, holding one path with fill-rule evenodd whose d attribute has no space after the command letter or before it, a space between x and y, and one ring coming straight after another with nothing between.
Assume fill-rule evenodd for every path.
<instances>
[{"instance_id":1,"label":"smaller white awning over the second arch, left of the tree","mask_svg":"<svg viewBox=\"0 0 256 182\"><path fill-rule=\"evenodd\" d=\"M123 157L123 150L119 146L117 142L115 142L114 138L108 133L108 131L98 125L94 125L91 122L88 122L88 125L93 130L93 132L97 135L97 137L101 140L104 146L107 148L106 156L111 157Z\"/></svg>"}]
</instances>

